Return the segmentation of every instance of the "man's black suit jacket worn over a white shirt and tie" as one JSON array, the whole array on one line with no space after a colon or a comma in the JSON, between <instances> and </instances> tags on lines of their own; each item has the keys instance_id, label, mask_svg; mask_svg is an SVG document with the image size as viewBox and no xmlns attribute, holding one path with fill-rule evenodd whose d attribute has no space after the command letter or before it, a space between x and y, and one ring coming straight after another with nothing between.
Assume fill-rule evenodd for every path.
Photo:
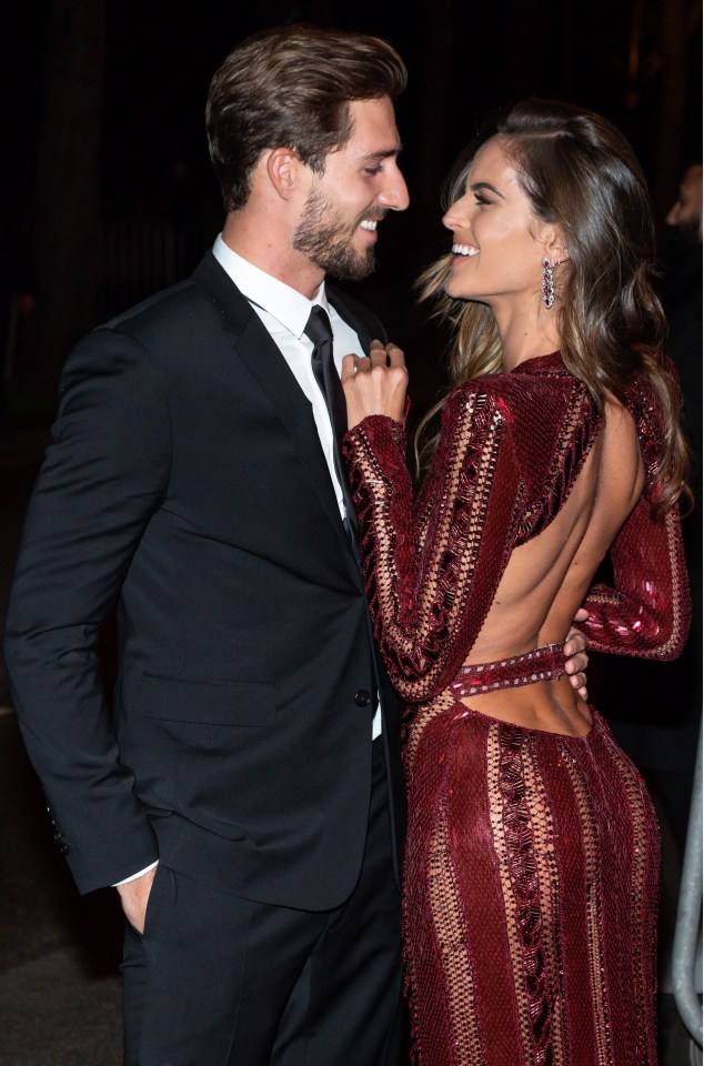
<instances>
[{"instance_id":1,"label":"man's black suit jacket worn over a white shirt and tie","mask_svg":"<svg viewBox=\"0 0 704 1066\"><path fill-rule=\"evenodd\" d=\"M97 642L115 602L112 715ZM71 353L4 656L81 892L160 855L262 902L341 903L378 684L400 843L396 703L311 406L211 253Z\"/></svg>"}]
</instances>

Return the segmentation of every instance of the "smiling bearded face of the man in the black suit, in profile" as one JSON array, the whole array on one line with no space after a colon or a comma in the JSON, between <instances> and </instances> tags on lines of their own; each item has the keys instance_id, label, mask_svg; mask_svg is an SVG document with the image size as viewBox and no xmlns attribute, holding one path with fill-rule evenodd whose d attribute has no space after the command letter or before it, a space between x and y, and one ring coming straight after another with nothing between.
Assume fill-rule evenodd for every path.
<instances>
[{"instance_id":1,"label":"smiling bearded face of the man in the black suit, in profile","mask_svg":"<svg viewBox=\"0 0 704 1066\"><path fill-rule=\"evenodd\" d=\"M313 174L293 234L298 252L341 281L373 271L378 222L409 205L391 100L355 100L350 115L352 135L326 157L323 173Z\"/></svg>"}]
</instances>

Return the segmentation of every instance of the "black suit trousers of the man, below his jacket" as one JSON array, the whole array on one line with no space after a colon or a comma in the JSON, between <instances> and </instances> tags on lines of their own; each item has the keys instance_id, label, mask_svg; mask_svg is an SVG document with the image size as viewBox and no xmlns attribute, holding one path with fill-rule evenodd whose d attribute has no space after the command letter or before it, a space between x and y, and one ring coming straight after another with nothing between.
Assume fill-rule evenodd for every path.
<instances>
[{"instance_id":1,"label":"black suit trousers of the man, below his jacket","mask_svg":"<svg viewBox=\"0 0 704 1066\"><path fill-rule=\"evenodd\" d=\"M125 927L125 1066L399 1066L400 898L381 748L360 878L334 911L254 903L160 865L143 936Z\"/></svg>"}]
</instances>

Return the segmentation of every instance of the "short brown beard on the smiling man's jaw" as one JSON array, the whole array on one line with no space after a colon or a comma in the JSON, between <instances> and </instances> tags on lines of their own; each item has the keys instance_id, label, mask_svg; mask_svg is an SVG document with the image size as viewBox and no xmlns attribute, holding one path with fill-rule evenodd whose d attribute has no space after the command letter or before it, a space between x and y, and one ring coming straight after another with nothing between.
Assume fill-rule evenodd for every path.
<instances>
[{"instance_id":1,"label":"short brown beard on the smiling man's jaw","mask_svg":"<svg viewBox=\"0 0 704 1066\"><path fill-rule=\"evenodd\" d=\"M323 194L314 189L295 228L293 248L339 281L361 281L374 270L374 245L370 244L365 252L360 253L352 244L352 235L361 219L372 217L372 212L361 215L351 227L332 211ZM379 211L375 217L381 217Z\"/></svg>"}]
</instances>

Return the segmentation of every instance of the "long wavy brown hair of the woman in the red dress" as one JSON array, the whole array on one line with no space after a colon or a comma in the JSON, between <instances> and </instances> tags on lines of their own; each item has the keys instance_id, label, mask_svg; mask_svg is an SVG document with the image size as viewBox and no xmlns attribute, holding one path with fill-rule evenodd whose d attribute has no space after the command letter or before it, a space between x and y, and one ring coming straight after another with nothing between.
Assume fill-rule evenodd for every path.
<instances>
[{"instance_id":1,"label":"long wavy brown hair of the woman in the red dress","mask_svg":"<svg viewBox=\"0 0 704 1066\"><path fill-rule=\"evenodd\" d=\"M691 452L680 422L680 390L661 353L666 323L655 292L655 227L646 182L626 138L606 119L571 103L529 98L491 117L460 155L445 190L449 207L465 192L479 148L500 135L535 219L556 223L570 250L560 268L555 311L567 369L590 390L600 410L625 386L646 381L662 404L664 439L655 472L655 513L664 516L687 486ZM493 313L445 293L452 257L443 255L418 280L421 300L449 324L451 388L502 369ZM557 274L555 281L557 281ZM536 278L536 299L540 279ZM419 425L416 459L432 455L443 400ZM424 443L423 443L424 442Z\"/></svg>"}]
</instances>

